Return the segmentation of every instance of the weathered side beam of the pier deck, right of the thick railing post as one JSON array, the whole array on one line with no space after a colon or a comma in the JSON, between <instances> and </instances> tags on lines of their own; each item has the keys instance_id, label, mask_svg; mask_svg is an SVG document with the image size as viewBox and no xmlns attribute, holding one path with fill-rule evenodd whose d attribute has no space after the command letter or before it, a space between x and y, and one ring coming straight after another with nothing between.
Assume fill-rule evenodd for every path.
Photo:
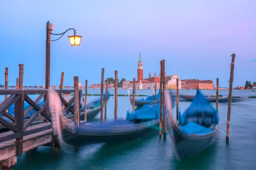
<instances>
[{"instance_id":1,"label":"weathered side beam of the pier deck, right of the thick railing post","mask_svg":"<svg viewBox=\"0 0 256 170\"><path fill-rule=\"evenodd\" d=\"M34 140L31 140L31 141L28 141L28 142L24 142L23 143L23 152L26 152L28 150L34 149L38 146L41 146L41 145L44 145L44 144L47 144L47 143L50 143L50 142L52 142L52 135L51 134L48 134L46 136L42 136L38 139L34 139Z\"/></svg>"}]
</instances>

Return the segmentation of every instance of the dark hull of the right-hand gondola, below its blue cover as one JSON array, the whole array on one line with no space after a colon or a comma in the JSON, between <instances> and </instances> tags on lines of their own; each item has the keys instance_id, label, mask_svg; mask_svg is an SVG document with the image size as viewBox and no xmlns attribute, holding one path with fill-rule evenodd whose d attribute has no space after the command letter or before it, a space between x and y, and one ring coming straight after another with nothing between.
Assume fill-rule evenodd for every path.
<instances>
[{"instance_id":1,"label":"dark hull of the right-hand gondola, below its blue cover","mask_svg":"<svg viewBox=\"0 0 256 170\"><path fill-rule=\"evenodd\" d=\"M171 126L172 147L178 161L189 158L211 146L218 137L218 128L204 135L184 135L176 123Z\"/></svg>"}]
</instances>

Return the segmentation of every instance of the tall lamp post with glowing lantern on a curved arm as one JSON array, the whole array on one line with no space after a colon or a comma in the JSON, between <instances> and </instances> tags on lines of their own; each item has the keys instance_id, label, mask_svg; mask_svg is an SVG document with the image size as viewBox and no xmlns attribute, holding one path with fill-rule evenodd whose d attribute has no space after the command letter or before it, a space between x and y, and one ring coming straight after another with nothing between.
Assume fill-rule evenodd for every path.
<instances>
[{"instance_id":1,"label":"tall lamp post with glowing lantern on a curved arm","mask_svg":"<svg viewBox=\"0 0 256 170\"><path fill-rule=\"evenodd\" d=\"M74 35L68 36L70 40L70 45L71 46L78 46L80 45L81 38L82 36L76 35L76 30L74 28L67 29L65 32L61 34L53 34L52 31L54 30L54 25L51 24L49 21L46 23L46 64L45 64L45 88L49 89L50 88L50 45L51 41L57 41L59 40L67 31L73 30ZM51 34L52 35L61 35L56 40L51 40ZM48 94L44 96L44 101L48 99ZM49 108L46 109L46 113L49 114Z\"/></svg>"}]
</instances>

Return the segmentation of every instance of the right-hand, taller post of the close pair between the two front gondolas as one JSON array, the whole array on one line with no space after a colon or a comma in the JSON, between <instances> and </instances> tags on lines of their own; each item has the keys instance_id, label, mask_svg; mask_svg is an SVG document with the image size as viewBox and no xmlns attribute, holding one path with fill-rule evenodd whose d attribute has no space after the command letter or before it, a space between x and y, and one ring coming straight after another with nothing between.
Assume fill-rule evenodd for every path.
<instances>
[{"instance_id":1,"label":"right-hand, taller post of the close pair between the two front gondolas","mask_svg":"<svg viewBox=\"0 0 256 170\"><path fill-rule=\"evenodd\" d=\"M162 60L162 76L163 76L163 139L166 139L166 102L165 102L165 91L166 91L166 84L165 84L165 60Z\"/></svg>"}]
</instances>

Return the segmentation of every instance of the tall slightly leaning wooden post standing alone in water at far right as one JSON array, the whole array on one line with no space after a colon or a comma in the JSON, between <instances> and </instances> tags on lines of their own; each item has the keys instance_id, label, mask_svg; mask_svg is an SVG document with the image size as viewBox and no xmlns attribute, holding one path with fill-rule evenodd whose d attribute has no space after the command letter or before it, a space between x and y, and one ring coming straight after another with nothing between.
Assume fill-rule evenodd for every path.
<instances>
[{"instance_id":1,"label":"tall slightly leaning wooden post standing alone in water at far right","mask_svg":"<svg viewBox=\"0 0 256 170\"><path fill-rule=\"evenodd\" d=\"M226 142L229 142L229 135L230 135L230 114L231 114L231 101L232 101L232 86L233 86L233 79L234 79L234 67L235 67L235 57L236 54L232 54L232 62L231 62L231 71L230 71L230 87L228 93L228 106L227 106L227 137Z\"/></svg>"}]
</instances>

